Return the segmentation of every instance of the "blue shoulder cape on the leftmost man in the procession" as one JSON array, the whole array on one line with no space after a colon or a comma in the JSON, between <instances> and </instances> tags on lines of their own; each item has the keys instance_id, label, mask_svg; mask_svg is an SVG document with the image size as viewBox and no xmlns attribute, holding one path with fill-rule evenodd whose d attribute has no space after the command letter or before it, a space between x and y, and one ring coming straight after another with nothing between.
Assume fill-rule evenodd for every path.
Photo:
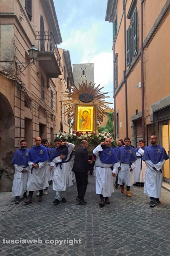
<instances>
[{"instance_id":1,"label":"blue shoulder cape on the leftmost man in the procession","mask_svg":"<svg viewBox=\"0 0 170 256\"><path fill-rule=\"evenodd\" d=\"M11 163L19 166L28 166L28 152L29 149L19 148L14 152Z\"/></svg>"}]
</instances>

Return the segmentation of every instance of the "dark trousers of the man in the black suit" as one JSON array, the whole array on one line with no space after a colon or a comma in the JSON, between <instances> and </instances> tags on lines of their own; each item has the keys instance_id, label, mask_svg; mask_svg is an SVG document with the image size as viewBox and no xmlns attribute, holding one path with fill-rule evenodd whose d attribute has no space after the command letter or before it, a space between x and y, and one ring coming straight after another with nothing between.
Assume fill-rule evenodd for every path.
<instances>
[{"instance_id":1,"label":"dark trousers of the man in the black suit","mask_svg":"<svg viewBox=\"0 0 170 256\"><path fill-rule=\"evenodd\" d=\"M88 185L88 174L82 172L75 172L75 179L78 192L77 198L83 200Z\"/></svg>"}]
</instances>

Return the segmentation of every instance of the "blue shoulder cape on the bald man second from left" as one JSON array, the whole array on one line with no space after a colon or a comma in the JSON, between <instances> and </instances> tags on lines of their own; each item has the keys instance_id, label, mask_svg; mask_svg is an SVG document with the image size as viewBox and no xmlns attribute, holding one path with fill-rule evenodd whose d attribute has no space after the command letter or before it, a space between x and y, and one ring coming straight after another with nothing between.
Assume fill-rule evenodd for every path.
<instances>
[{"instance_id":1,"label":"blue shoulder cape on the bald man second from left","mask_svg":"<svg viewBox=\"0 0 170 256\"><path fill-rule=\"evenodd\" d=\"M49 160L49 153L45 146L33 146L29 149L28 152L28 161L34 164L36 163L44 163Z\"/></svg>"}]
</instances>

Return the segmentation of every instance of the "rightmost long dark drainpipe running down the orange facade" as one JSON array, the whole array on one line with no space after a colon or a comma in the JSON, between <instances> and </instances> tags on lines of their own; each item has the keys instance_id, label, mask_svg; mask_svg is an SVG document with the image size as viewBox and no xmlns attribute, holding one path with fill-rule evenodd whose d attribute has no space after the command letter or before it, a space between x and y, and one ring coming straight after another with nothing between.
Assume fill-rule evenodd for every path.
<instances>
[{"instance_id":1,"label":"rightmost long dark drainpipe running down the orange facade","mask_svg":"<svg viewBox=\"0 0 170 256\"><path fill-rule=\"evenodd\" d=\"M144 46L143 46L143 3L145 0L141 1L141 86L142 86L142 137L145 141L145 106L144 106Z\"/></svg>"}]
</instances>

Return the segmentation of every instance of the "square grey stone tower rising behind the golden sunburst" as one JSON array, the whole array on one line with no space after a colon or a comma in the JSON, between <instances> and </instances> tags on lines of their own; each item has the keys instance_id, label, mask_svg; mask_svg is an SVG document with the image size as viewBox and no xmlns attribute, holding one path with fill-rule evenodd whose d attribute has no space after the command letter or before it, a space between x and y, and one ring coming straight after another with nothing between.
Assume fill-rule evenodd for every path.
<instances>
[{"instance_id":1,"label":"square grey stone tower rising behind the golden sunburst","mask_svg":"<svg viewBox=\"0 0 170 256\"><path fill-rule=\"evenodd\" d=\"M95 74L94 74L94 63L87 64L73 64L73 77L74 84L77 87L78 83L81 84L82 81L88 81L88 83L95 83Z\"/></svg>"}]
</instances>

